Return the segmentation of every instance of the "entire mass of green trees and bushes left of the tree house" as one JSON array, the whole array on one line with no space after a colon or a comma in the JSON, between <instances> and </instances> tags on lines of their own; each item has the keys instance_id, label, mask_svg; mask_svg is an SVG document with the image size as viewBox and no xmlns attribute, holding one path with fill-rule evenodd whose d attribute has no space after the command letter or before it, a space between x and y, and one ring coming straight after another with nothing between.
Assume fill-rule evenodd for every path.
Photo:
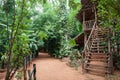
<instances>
[{"instance_id":1,"label":"entire mass of green trees and bushes left of the tree house","mask_svg":"<svg viewBox=\"0 0 120 80\"><path fill-rule=\"evenodd\" d=\"M76 45L72 38L82 30L76 19L79 0L0 0L0 4L0 58L6 56L9 63L6 80L11 68L23 66L23 58L37 55L39 48L58 58L69 56Z\"/></svg>"}]
</instances>

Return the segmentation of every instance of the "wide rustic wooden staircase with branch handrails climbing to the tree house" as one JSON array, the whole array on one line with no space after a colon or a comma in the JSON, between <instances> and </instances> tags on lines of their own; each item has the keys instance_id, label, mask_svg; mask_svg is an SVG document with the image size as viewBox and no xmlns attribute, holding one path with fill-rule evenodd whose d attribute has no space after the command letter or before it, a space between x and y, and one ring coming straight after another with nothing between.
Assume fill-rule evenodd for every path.
<instances>
[{"instance_id":1,"label":"wide rustic wooden staircase with branch handrails climbing to the tree house","mask_svg":"<svg viewBox=\"0 0 120 80\"><path fill-rule=\"evenodd\" d=\"M112 68L109 29L100 28L95 22L84 46L83 71L105 76L112 73Z\"/></svg>"}]
</instances>

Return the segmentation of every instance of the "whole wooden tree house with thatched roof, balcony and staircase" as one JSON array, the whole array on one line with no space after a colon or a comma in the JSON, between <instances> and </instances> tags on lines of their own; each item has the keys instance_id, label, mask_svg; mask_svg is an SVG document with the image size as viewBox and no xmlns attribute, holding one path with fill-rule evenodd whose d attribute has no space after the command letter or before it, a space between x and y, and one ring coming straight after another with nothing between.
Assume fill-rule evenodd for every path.
<instances>
[{"instance_id":1,"label":"whole wooden tree house with thatched roof, balcony and staircase","mask_svg":"<svg viewBox=\"0 0 120 80\"><path fill-rule=\"evenodd\" d=\"M97 24L96 5L91 0L81 0L82 9L77 14L77 19L83 23L83 32L75 41L84 47L82 53L83 72L106 75L113 72L113 60L110 30L101 28Z\"/></svg>"}]
</instances>

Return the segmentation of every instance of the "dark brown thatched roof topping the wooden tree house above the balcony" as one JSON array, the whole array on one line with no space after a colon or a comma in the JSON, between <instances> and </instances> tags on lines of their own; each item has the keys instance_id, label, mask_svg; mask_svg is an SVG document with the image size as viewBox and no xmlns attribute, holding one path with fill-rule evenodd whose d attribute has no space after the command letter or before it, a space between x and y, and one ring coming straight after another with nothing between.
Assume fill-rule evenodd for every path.
<instances>
[{"instance_id":1,"label":"dark brown thatched roof topping the wooden tree house above the balcony","mask_svg":"<svg viewBox=\"0 0 120 80\"><path fill-rule=\"evenodd\" d=\"M85 11L85 20L93 20L95 17L94 15L94 4L91 0L81 0L82 8L77 14L77 19L82 22L83 21L83 11Z\"/></svg>"}]
</instances>

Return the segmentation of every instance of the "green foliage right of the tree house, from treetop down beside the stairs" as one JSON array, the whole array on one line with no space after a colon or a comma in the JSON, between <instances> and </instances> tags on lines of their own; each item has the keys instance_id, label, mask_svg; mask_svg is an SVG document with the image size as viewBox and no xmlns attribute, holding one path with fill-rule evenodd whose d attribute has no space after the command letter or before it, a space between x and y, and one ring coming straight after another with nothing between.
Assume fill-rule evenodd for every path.
<instances>
[{"instance_id":1,"label":"green foliage right of the tree house, from treetop down beside the stairs","mask_svg":"<svg viewBox=\"0 0 120 80\"><path fill-rule=\"evenodd\" d=\"M99 25L109 27L114 33L111 38L113 48L113 63L114 66L120 65L119 50L120 50L120 0L99 0L98 1L98 17ZM111 6L112 5L112 6Z\"/></svg>"}]
</instances>

